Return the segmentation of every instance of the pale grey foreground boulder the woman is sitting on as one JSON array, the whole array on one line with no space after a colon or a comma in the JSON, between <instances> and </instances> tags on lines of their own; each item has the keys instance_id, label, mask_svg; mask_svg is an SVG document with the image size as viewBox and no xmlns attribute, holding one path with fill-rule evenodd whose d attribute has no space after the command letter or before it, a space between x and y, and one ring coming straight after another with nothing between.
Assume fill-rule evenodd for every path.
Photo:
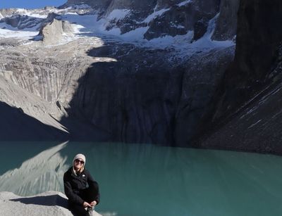
<instances>
[{"instance_id":1,"label":"pale grey foreground boulder the woman is sitting on","mask_svg":"<svg viewBox=\"0 0 282 216\"><path fill-rule=\"evenodd\" d=\"M11 192L0 193L0 215L1 216L25 216L25 215L53 215L68 216L73 215L67 208L68 201L63 193L48 191L36 196L17 196ZM100 214L93 212L94 216ZM104 213L103 215L115 215ZM101 216L101 215L100 215Z\"/></svg>"}]
</instances>

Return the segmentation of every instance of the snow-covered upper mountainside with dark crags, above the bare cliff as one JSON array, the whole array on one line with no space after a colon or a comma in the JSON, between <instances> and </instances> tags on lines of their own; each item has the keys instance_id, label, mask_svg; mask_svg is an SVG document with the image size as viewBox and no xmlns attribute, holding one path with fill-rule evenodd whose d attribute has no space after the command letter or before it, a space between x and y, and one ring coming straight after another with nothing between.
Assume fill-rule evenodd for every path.
<instances>
[{"instance_id":1,"label":"snow-covered upper mountainside with dark crags, above the bare cliff","mask_svg":"<svg viewBox=\"0 0 282 216\"><path fill-rule=\"evenodd\" d=\"M75 23L82 34L105 34L125 41L152 41L163 46L180 40L186 43L194 42L207 33L210 39L213 37L220 11L218 0L209 1L209 4L203 0L103 2L91 1L90 4L86 1L68 1L60 8L0 10L1 32L36 32L56 18ZM220 32L217 32L217 35L219 34ZM231 41L234 36L235 34L229 35L225 40ZM220 37L216 39L221 40Z\"/></svg>"}]
</instances>

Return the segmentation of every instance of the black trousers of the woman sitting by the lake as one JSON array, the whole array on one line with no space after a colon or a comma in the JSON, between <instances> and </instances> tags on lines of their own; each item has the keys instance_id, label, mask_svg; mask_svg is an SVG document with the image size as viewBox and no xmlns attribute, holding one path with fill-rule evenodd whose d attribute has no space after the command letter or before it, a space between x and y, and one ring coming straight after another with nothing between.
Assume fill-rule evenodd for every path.
<instances>
[{"instance_id":1,"label":"black trousers of the woman sitting by the lake","mask_svg":"<svg viewBox=\"0 0 282 216\"><path fill-rule=\"evenodd\" d=\"M97 198L97 189L90 186L87 189L80 191L80 197L87 203L91 203ZM76 203L68 203L68 207L75 216L88 216L87 210L82 205Z\"/></svg>"}]
</instances>

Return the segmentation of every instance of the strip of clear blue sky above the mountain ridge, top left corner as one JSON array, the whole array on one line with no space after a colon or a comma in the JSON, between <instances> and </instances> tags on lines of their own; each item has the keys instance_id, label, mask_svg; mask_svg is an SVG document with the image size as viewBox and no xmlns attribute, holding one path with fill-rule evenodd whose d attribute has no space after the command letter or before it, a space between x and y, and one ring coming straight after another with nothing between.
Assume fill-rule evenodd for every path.
<instances>
[{"instance_id":1,"label":"strip of clear blue sky above the mountain ridge, top left corner","mask_svg":"<svg viewBox=\"0 0 282 216\"><path fill-rule=\"evenodd\" d=\"M42 8L61 6L67 0L0 0L0 8Z\"/></svg>"}]
</instances>

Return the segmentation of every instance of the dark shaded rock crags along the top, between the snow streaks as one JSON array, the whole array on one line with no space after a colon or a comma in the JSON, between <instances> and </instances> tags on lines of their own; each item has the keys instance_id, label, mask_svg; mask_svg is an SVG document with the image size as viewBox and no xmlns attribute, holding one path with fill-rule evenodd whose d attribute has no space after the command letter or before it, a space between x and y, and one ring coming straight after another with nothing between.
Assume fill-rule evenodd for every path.
<instances>
[{"instance_id":1,"label":"dark shaded rock crags along the top, between the snow streaks","mask_svg":"<svg viewBox=\"0 0 282 216\"><path fill-rule=\"evenodd\" d=\"M80 1L69 0L64 6L73 4L89 4L101 11L101 17L107 16L116 9L130 10L130 13L121 19L109 20L106 30L118 27L121 34L135 30L137 27L148 27L144 34L145 39L154 39L170 35L183 35L195 30L194 40L200 39L207 31L209 20L219 13L220 0L193 0L188 4L178 6L184 0L111 0L111 1ZM145 22L154 12L168 9L162 15L157 15L149 22ZM225 30L225 29L224 29Z\"/></svg>"}]
</instances>

